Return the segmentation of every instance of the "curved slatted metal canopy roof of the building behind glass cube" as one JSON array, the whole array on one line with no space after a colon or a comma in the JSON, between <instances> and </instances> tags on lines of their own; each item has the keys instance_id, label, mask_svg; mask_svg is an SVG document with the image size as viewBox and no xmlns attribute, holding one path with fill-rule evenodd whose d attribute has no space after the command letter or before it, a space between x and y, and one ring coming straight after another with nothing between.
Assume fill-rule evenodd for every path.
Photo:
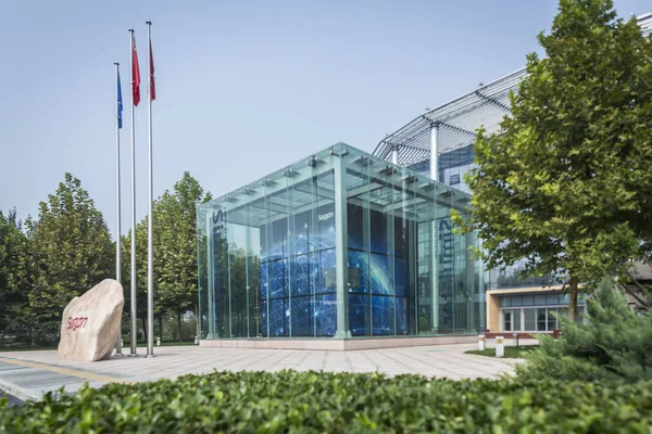
<instances>
[{"instance_id":1,"label":"curved slatted metal canopy roof of the building behind glass cube","mask_svg":"<svg viewBox=\"0 0 652 434\"><path fill-rule=\"evenodd\" d=\"M652 34L652 13L637 17L643 35ZM439 125L439 154L469 145L476 129L484 126L488 133L498 131L505 115L510 115L511 91L517 91L526 68L509 74L488 85L479 86L453 101L429 110L388 135L376 145L374 155L391 159L392 148L399 149L399 164L411 166L430 158L430 129Z\"/></svg>"}]
</instances>

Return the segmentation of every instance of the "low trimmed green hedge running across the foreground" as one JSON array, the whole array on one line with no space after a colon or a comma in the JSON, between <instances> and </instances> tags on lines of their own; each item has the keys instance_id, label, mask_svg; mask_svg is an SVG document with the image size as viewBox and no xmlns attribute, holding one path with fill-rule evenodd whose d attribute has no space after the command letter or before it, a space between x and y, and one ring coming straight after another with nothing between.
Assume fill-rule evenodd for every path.
<instances>
[{"instance_id":1,"label":"low trimmed green hedge running across the foreground","mask_svg":"<svg viewBox=\"0 0 652 434\"><path fill-rule=\"evenodd\" d=\"M0 404L9 433L649 433L652 384L215 372Z\"/></svg>"}]
</instances>

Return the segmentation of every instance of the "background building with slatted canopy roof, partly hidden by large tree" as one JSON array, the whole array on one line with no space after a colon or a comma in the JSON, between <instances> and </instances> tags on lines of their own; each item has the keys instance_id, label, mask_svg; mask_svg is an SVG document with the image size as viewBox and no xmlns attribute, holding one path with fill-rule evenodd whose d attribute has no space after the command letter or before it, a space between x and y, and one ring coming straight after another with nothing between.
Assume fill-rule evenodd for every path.
<instances>
[{"instance_id":1,"label":"background building with slatted canopy roof, partly hidden by large tree","mask_svg":"<svg viewBox=\"0 0 652 434\"><path fill-rule=\"evenodd\" d=\"M652 13L637 17L643 35L652 34ZM518 91L525 68L427 110L383 139L374 155L408 167L447 186L469 192L464 175L474 167L473 143L484 127L488 135L499 130L511 114L510 92ZM523 278L522 264L484 273L487 285L487 328L490 332L552 332L559 326L552 311L565 311L567 294L563 282L552 276ZM578 303L581 320L584 299Z\"/></svg>"}]
</instances>

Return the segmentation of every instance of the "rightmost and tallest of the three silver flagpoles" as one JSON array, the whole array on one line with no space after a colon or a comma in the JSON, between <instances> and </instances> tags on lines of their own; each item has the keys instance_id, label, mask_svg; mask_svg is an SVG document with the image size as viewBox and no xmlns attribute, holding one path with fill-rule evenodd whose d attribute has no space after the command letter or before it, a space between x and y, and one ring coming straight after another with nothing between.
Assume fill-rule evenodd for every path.
<instances>
[{"instance_id":1,"label":"rightmost and tallest of the three silver flagpoles","mask_svg":"<svg viewBox=\"0 0 652 434\"><path fill-rule=\"evenodd\" d=\"M153 219L153 165L152 165L152 22L147 22L147 129L149 142L149 197L147 226L147 357L154 357L154 219Z\"/></svg>"}]
</instances>

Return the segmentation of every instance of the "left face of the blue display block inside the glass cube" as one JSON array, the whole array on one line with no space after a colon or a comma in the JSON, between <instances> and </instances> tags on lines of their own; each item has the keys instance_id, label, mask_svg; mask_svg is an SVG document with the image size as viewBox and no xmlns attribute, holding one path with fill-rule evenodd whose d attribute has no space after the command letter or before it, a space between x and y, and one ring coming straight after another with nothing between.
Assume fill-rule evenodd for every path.
<instances>
[{"instance_id":1,"label":"left face of the blue display block inside the glass cube","mask_svg":"<svg viewBox=\"0 0 652 434\"><path fill-rule=\"evenodd\" d=\"M334 209L329 204L261 227L261 281L269 288L261 286L268 306L263 335L335 333L336 289L326 288L323 277L323 270L335 269Z\"/></svg>"}]
</instances>

